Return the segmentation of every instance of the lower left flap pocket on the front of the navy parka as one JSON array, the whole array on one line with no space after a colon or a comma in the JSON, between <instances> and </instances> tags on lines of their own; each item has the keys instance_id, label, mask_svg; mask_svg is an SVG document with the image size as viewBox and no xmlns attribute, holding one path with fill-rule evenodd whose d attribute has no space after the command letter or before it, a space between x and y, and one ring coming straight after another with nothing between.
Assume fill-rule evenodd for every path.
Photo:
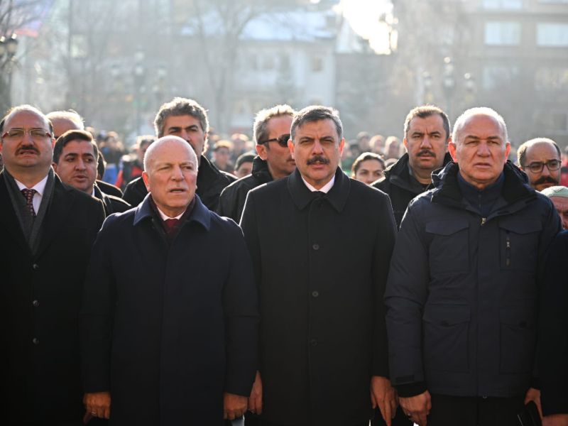
<instances>
[{"instance_id":1,"label":"lower left flap pocket on the front of the navy parka","mask_svg":"<svg viewBox=\"0 0 568 426\"><path fill-rule=\"evenodd\" d=\"M467 305L426 305L424 362L427 370L469 370L469 321Z\"/></svg>"}]
</instances>

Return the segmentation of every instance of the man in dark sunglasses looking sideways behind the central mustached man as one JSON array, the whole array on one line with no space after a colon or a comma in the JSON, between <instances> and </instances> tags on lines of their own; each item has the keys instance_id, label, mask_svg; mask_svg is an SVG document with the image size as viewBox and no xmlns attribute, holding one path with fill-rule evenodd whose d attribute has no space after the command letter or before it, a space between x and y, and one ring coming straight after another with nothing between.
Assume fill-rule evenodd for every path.
<instances>
[{"instance_id":1,"label":"man in dark sunglasses looking sideways behind the central mustached man","mask_svg":"<svg viewBox=\"0 0 568 426\"><path fill-rule=\"evenodd\" d=\"M219 215L239 222L250 190L263 183L285 178L295 170L296 163L288 149L294 114L295 111L288 105L258 111L253 125L258 157L253 160L251 175L231 183L223 190L217 211Z\"/></svg>"}]
</instances>

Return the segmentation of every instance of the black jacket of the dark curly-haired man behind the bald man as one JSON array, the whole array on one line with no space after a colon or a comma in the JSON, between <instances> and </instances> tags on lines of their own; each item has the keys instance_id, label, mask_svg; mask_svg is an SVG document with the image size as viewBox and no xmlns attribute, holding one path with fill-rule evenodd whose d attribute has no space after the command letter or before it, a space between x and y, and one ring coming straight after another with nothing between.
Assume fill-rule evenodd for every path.
<instances>
[{"instance_id":1,"label":"black jacket of the dark curly-haired man behind the bald man","mask_svg":"<svg viewBox=\"0 0 568 426\"><path fill-rule=\"evenodd\" d=\"M236 180L236 176L222 172L217 169L207 158L202 155L200 159L199 169L197 170L197 191L205 207L212 212L217 210L219 205L219 195L222 190L231 182ZM142 178L136 178L126 185L123 199L131 206L136 207L140 204L148 194L146 185Z\"/></svg>"}]
</instances>

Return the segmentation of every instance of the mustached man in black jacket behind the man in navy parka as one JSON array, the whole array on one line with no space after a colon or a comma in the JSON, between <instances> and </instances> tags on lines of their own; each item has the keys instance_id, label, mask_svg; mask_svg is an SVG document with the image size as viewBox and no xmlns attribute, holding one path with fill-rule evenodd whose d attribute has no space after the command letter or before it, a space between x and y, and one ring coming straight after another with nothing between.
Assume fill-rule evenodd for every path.
<instances>
[{"instance_id":1,"label":"mustached man in black jacket behind the man in navy parka","mask_svg":"<svg viewBox=\"0 0 568 426\"><path fill-rule=\"evenodd\" d=\"M452 160L449 141L449 119L442 109L425 105L410 110L404 122L407 153L373 184L391 197L398 227L410 200L432 187L432 172Z\"/></svg>"}]
</instances>

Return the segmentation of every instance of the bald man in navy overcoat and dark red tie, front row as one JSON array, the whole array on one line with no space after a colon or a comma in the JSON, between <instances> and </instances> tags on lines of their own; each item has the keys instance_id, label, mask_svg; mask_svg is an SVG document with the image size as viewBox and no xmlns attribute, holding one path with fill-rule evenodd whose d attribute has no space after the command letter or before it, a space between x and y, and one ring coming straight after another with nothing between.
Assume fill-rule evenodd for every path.
<instances>
[{"instance_id":1,"label":"bald man in navy overcoat and dark red tie, front row","mask_svg":"<svg viewBox=\"0 0 568 426\"><path fill-rule=\"evenodd\" d=\"M221 426L244 413L255 375L251 259L239 227L195 195L182 138L153 143L144 170L149 194L107 218L87 273L87 410L111 425Z\"/></svg>"}]
</instances>

